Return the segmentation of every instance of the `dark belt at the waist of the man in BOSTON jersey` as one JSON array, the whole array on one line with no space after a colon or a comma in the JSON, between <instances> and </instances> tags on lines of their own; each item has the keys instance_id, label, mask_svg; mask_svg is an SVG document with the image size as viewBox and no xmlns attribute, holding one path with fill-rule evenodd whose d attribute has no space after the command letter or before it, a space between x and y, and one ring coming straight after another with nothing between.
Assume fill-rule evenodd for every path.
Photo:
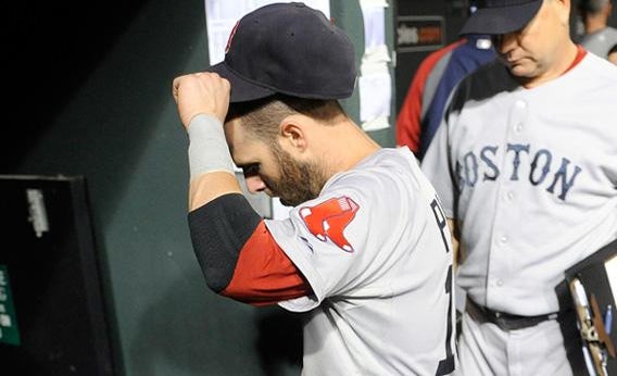
<instances>
[{"instance_id":1,"label":"dark belt at the waist of the man in BOSTON jersey","mask_svg":"<svg viewBox=\"0 0 617 376\"><path fill-rule=\"evenodd\" d=\"M555 319L559 316L558 312L553 312L544 315L537 316L520 316L509 313L493 311L482 306L467 297L465 304L467 312L474 319L480 322L489 322L499 326L502 330L516 330L536 326L546 319Z\"/></svg>"}]
</instances>

